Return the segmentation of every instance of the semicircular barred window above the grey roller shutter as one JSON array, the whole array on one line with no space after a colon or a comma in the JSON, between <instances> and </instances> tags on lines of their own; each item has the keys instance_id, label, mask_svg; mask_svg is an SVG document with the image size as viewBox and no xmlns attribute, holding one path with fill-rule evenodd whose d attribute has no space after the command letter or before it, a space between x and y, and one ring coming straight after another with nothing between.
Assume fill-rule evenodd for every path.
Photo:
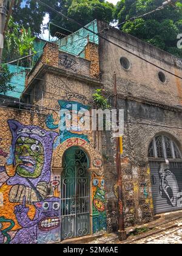
<instances>
[{"instance_id":1,"label":"semicircular barred window above the grey roller shutter","mask_svg":"<svg viewBox=\"0 0 182 256\"><path fill-rule=\"evenodd\" d=\"M181 159L181 152L177 144L170 138L159 135L150 142L148 157Z\"/></svg>"}]
</instances>

